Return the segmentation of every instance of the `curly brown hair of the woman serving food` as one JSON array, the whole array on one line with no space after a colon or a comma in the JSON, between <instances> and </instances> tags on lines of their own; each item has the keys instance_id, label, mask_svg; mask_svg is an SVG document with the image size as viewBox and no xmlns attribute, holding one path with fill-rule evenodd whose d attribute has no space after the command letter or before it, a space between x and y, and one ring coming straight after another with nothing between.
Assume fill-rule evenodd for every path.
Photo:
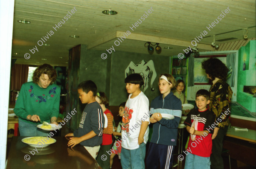
<instances>
[{"instance_id":1,"label":"curly brown hair of the woman serving food","mask_svg":"<svg viewBox=\"0 0 256 169\"><path fill-rule=\"evenodd\" d=\"M44 65L38 66L38 68L36 68L36 70L33 73L32 79L35 84L38 84L39 77L41 76L42 73L47 74L49 79L52 80L50 85L52 85L52 83L55 82L57 77L56 70L51 65L44 64Z\"/></svg>"}]
</instances>

